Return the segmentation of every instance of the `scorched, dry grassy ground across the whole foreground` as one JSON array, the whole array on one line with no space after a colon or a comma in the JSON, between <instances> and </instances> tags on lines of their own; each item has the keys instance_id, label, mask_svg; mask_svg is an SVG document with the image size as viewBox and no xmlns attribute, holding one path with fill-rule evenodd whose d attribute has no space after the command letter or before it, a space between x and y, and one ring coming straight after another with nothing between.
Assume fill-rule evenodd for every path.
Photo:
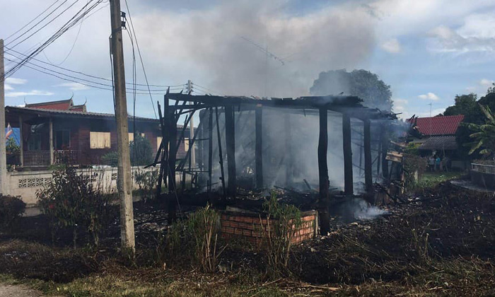
<instances>
[{"instance_id":1,"label":"scorched, dry grassy ground across the whole foreground","mask_svg":"<svg viewBox=\"0 0 495 297\"><path fill-rule=\"evenodd\" d=\"M97 249L52 246L42 216L0 234L0 276L64 296L494 296L495 198L443 183L386 206L373 221L334 219L332 233L293 247L289 267L267 274L260 250L228 242L219 272L156 263L166 214L136 204L136 260L118 256L118 224ZM1 277L0 277L1 282Z\"/></svg>"}]
</instances>

